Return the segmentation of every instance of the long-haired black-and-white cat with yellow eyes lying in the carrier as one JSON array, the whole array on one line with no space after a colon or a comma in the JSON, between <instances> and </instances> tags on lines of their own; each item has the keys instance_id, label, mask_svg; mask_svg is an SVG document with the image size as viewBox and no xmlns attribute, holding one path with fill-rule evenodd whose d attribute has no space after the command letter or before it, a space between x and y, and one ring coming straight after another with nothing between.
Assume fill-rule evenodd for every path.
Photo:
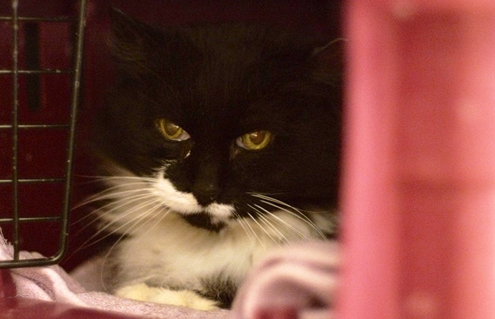
<instances>
[{"instance_id":1,"label":"long-haired black-and-white cat with yellow eyes lying in the carrier","mask_svg":"<svg viewBox=\"0 0 495 319\"><path fill-rule=\"evenodd\" d=\"M89 202L117 296L227 308L267 252L336 235L341 45L273 26L160 29L113 10ZM327 44L328 43L328 44Z\"/></svg>"}]
</instances>

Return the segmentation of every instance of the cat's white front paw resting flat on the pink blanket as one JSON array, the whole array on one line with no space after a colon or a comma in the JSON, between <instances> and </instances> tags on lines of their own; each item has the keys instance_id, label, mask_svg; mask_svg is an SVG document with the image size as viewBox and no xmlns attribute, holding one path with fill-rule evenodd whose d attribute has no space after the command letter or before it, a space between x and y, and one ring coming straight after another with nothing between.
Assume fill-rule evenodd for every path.
<instances>
[{"instance_id":1,"label":"cat's white front paw resting flat on the pink blanket","mask_svg":"<svg viewBox=\"0 0 495 319\"><path fill-rule=\"evenodd\" d=\"M183 306L198 310L220 309L218 303L214 300L204 298L192 290L169 290L162 287L150 287L146 283L119 288L115 292L115 295L140 301Z\"/></svg>"}]
</instances>

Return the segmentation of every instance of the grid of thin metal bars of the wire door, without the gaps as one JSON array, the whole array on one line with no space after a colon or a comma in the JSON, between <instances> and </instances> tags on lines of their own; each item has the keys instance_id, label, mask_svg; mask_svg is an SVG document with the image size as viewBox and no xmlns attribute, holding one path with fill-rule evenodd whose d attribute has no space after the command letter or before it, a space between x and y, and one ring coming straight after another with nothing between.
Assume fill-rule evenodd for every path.
<instances>
[{"instance_id":1,"label":"grid of thin metal bars of the wire door, without the gaps","mask_svg":"<svg viewBox=\"0 0 495 319\"><path fill-rule=\"evenodd\" d=\"M8 21L12 25L12 69L0 69L0 75L12 76L12 123L0 124L0 129L11 130L12 134L12 178L0 179L0 185L12 185L13 215L0 217L1 223L12 224L12 246L14 249L12 260L0 261L0 268L33 267L40 265L51 265L62 259L67 250L67 235L69 229L69 212L71 204L71 180L73 171L74 143L76 136L77 108L80 101L80 81L82 69L82 48L84 43L84 27L86 16L86 0L78 0L78 14L76 16L51 16L51 17L25 17L19 16L19 0L12 0L12 16L0 16L0 21ZM73 64L71 69L38 69L38 54L30 64L27 61L25 69L19 69L19 27L21 23L26 25L39 22L70 22L73 23ZM36 32L35 32L36 33ZM36 39L35 39L36 40ZM34 43L33 43L34 44ZM30 49L32 51L32 49ZM41 124L20 124L19 123L19 76L20 75L41 75L41 74L63 74L71 75L71 104L69 123L41 123ZM65 165L65 176L62 178L20 178L19 176L19 132L21 130L38 129L63 129L68 130L67 158ZM19 205L19 187L21 184L43 184L43 183L64 183L64 199L60 215L49 217L21 217ZM33 215L31 215L33 216ZM58 251L51 257L41 257L39 259L21 260L19 252L20 244L20 223L29 222L57 222L60 226Z\"/></svg>"}]
</instances>

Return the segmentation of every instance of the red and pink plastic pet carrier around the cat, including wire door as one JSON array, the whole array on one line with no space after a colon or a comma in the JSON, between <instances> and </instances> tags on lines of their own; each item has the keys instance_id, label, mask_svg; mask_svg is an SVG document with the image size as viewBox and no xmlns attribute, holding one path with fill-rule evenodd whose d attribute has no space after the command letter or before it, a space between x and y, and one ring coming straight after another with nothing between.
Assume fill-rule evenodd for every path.
<instances>
[{"instance_id":1,"label":"red and pink plastic pet carrier around the cat, including wire door","mask_svg":"<svg viewBox=\"0 0 495 319\"><path fill-rule=\"evenodd\" d=\"M87 2L0 3L0 228L13 244L0 268L58 263L67 248L84 15L105 1ZM170 23L273 12L290 21L296 15L281 14L280 3L321 19L332 3L246 1L268 8L257 12L240 1L210 2L128 1L128 8ZM346 7L347 268L332 307L345 319L494 318L495 5L349 0ZM84 59L100 71L93 57ZM91 80L87 100L104 84ZM21 250L47 257L25 260ZM130 318L16 296L10 272L0 269L0 318ZM292 307L262 310L257 318L298 318ZM174 314L162 317L229 316Z\"/></svg>"}]
</instances>

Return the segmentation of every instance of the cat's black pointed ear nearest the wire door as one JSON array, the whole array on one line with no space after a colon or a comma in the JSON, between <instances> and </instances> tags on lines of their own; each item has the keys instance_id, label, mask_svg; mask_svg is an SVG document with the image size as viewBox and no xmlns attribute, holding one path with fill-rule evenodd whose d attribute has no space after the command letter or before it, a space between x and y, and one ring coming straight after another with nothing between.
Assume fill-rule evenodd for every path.
<instances>
[{"instance_id":1,"label":"cat's black pointed ear nearest the wire door","mask_svg":"<svg viewBox=\"0 0 495 319\"><path fill-rule=\"evenodd\" d=\"M118 66L130 71L146 64L154 51L156 31L117 8L112 8L109 46Z\"/></svg>"}]
</instances>

